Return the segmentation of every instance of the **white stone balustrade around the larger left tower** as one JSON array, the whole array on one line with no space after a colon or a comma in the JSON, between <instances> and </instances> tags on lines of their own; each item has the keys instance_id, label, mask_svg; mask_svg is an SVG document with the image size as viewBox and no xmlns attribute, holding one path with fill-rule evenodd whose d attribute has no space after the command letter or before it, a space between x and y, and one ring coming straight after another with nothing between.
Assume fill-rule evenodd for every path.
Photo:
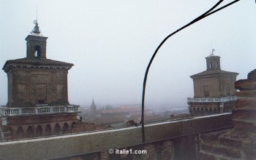
<instances>
[{"instance_id":1,"label":"white stone balustrade around the larger left tower","mask_svg":"<svg viewBox=\"0 0 256 160\"><path fill-rule=\"evenodd\" d=\"M25 116L40 115L50 113L78 113L80 105L43 105L26 108L7 108L5 105L0 106L0 116Z\"/></svg>"}]
</instances>

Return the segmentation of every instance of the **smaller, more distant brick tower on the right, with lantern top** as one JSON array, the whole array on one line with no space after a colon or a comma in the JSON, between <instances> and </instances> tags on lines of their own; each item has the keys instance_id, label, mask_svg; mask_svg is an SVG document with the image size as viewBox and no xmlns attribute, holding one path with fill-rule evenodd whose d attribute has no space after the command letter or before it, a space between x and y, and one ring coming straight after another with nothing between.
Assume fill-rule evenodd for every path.
<instances>
[{"instance_id":1,"label":"smaller, more distant brick tower on the right, with lantern top","mask_svg":"<svg viewBox=\"0 0 256 160\"><path fill-rule=\"evenodd\" d=\"M190 115L232 111L236 102L237 75L221 70L219 56L206 57L206 71L190 76L194 83L194 98L188 99Z\"/></svg>"}]
</instances>

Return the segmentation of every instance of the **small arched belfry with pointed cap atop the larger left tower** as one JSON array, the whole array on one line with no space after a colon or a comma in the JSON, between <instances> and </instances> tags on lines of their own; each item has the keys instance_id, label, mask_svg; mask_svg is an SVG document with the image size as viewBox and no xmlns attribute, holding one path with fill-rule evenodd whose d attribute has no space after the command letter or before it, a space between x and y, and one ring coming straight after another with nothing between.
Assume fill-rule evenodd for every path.
<instances>
[{"instance_id":1,"label":"small arched belfry with pointed cap atop the larger left tower","mask_svg":"<svg viewBox=\"0 0 256 160\"><path fill-rule=\"evenodd\" d=\"M46 39L42 36L37 20L34 20L34 29L31 35L26 37L26 57L29 59L46 58Z\"/></svg>"}]
</instances>

